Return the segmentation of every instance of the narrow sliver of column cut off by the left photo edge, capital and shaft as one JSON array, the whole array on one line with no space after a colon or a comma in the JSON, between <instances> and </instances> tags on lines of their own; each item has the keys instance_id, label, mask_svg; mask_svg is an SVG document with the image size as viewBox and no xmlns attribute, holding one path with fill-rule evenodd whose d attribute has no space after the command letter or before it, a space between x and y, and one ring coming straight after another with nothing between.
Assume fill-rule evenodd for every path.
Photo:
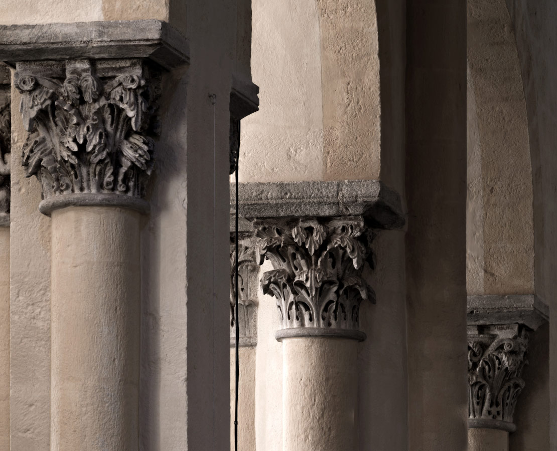
<instances>
[{"instance_id":1,"label":"narrow sliver of column cut off by the left photo edge, capital and shaft","mask_svg":"<svg viewBox=\"0 0 557 451\"><path fill-rule=\"evenodd\" d=\"M0 449L9 449L9 192L11 73L0 65Z\"/></svg>"}]
</instances>

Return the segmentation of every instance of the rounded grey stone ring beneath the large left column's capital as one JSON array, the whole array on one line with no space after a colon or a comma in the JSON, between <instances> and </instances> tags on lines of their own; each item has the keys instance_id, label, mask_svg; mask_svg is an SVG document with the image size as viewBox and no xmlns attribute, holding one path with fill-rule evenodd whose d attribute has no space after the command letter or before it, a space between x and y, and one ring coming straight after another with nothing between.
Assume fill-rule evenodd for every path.
<instances>
[{"instance_id":1,"label":"rounded grey stone ring beneath the large left column's capital","mask_svg":"<svg viewBox=\"0 0 557 451\"><path fill-rule=\"evenodd\" d=\"M148 214L149 212L149 204L143 199L124 194L100 192L79 192L53 196L41 201L38 210L43 215L50 216L54 210L72 206L121 207L139 211L141 214Z\"/></svg>"}]
</instances>

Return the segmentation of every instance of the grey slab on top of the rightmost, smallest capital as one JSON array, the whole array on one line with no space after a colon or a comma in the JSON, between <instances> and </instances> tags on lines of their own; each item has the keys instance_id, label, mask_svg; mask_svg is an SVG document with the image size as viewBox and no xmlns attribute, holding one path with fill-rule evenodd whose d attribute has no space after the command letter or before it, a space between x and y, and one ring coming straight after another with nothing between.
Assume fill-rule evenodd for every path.
<instances>
[{"instance_id":1,"label":"grey slab on top of the rightmost, smallest capital","mask_svg":"<svg viewBox=\"0 0 557 451\"><path fill-rule=\"evenodd\" d=\"M532 330L549 320L549 307L534 294L469 295L468 325L524 324Z\"/></svg>"}]
</instances>

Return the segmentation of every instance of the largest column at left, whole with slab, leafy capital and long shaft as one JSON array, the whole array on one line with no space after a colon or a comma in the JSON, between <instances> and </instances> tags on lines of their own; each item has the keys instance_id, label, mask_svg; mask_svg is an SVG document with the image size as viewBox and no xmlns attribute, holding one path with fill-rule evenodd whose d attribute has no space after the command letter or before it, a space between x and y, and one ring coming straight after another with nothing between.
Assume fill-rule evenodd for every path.
<instances>
[{"instance_id":1,"label":"largest column at left, whole with slab, leafy capital and long shaft","mask_svg":"<svg viewBox=\"0 0 557 451\"><path fill-rule=\"evenodd\" d=\"M23 51L19 31L8 54L21 60L22 164L52 218L51 449L136 450L141 215L160 73L187 58L158 21L68 24L56 33L65 45L31 39ZM87 38L99 42L78 48Z\"/></svg>"}]
</instances>

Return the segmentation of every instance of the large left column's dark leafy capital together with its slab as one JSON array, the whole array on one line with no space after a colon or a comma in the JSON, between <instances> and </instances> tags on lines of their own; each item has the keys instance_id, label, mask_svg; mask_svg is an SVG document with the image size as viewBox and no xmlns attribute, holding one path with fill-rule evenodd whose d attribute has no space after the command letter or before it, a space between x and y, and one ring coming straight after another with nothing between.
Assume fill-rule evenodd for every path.
<instances>
[{"instance_id":1,"label":"large left column's dark leafy capital together with its slab","mask_svg":"<svg viewBox=\"0 0 557 451\"><path fill-rule=\"evenodd\" d=\"M67 205L145 211L160 72L187 65L186 39L157 20L0 25L16 67L26 175L41 212Z\"/></svg>"}]
</instances>

